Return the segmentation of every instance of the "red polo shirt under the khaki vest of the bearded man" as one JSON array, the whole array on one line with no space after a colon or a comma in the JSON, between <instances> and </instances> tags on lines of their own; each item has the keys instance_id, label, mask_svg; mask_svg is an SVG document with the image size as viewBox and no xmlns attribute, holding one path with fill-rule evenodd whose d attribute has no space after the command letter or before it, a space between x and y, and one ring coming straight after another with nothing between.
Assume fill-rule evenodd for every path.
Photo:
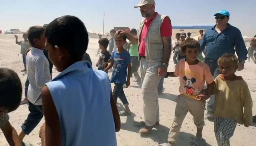
<instances>
[{"instance_id":1,"label":"red polo shirt under the khaki vest of the bearded man","mask_svg":"<svg viewBox=\"0 0 256 146\"><path fill-rule=\"evenodd\" d=\"M147 35L147 30L150 28L150 24L151 22L156 18L156 15L158 13L155 12L154 16L147 20L146 18L144 19L144 25L141 31L141 35L140 35L140 45L139 45L139 55L140 56L145 56L145 41L144 38L146 38ZM160 28L160 32L161 32L161 37L170 37L172 36L172 24L169 23L168 19L164 18L161 28Z\"/></svg>"}]
</instances>

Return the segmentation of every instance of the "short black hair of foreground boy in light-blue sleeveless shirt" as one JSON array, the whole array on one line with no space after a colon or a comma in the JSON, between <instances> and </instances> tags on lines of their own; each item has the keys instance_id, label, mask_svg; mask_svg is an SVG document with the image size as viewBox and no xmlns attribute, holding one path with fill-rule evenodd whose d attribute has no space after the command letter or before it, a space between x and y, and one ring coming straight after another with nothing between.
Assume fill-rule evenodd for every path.
<instances>
[{"instance_id":1,"label":"short black hair of foreground boy in light-blue sleeveless shirt","mask_svg":"<svg viewBox=\"0 0 256 146\"><path fill-rule=\"evenodd\" d=\"M88 33L84 23L75 16L54 19L45 29L45 38L53 47L66 49L74 60L82 59L88 47Z\"/></svg>"}]
</instances>

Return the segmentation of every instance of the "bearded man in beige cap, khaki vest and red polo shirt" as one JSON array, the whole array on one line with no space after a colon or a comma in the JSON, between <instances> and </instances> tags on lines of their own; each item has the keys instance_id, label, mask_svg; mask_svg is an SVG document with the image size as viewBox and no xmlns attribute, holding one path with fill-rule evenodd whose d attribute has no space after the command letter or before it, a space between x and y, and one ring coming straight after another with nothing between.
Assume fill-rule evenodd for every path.
<instances>
[{"instance_id":1,"label":"bearded man in beige cap, khaki vest and red polo shirt","mask_svg":"<svg viewBox=\"0 0 256 146\"><path fill-rule=\"evenodd\" d=\"M141 0L134 6L140 7L141 16L145 18L139 25L138 36L117 31L126 34L132 43L138 43L145 122L135 124L143 126L139 131L141 134L150 133L155 125L159 125L157 86L160 77L167 73L171 54L171 20L155 12L155 5L154 0Z\"/></svg>"}]
</instances>

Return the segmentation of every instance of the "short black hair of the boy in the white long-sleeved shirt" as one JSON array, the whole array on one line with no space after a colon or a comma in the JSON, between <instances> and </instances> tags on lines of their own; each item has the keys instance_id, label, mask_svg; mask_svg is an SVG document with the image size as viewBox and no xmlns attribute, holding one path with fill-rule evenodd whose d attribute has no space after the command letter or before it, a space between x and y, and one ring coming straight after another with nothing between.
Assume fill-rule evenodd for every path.
<instances>
[{"instance_id":1,"label":"short black hair of the boy in the white long-sleeved shirt","mask_svg":"<svg viewBox=\"0 0 256 146\"><path fill-rule=\"evenodd\" d=\"M44 28L42 26L31 26L28 30L28 41L33 46L34 39L40 39L44 34Z\"/></svg>"}]
</instances>

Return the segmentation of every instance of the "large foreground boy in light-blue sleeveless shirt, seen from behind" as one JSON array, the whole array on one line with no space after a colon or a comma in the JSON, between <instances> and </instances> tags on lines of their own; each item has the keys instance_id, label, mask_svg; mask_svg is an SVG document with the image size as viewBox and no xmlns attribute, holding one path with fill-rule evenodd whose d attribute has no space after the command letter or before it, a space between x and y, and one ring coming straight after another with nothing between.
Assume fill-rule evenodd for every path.
<instances>
[{"instance_id":1,"label":"large foreground boy in light-blue sleeveless shirt, seen from behind","mask_svg":"<svg viewBox=\"0 0 256 146\"><path fill-rule=\"evenodd\" d=\"M58 17L47 26L45 38L60 74L39 96L45 116L42 146L116 146L120 117L108 75L82 60L88 47L84 23L75 16Z\"/></svg>"}]
</instances>

